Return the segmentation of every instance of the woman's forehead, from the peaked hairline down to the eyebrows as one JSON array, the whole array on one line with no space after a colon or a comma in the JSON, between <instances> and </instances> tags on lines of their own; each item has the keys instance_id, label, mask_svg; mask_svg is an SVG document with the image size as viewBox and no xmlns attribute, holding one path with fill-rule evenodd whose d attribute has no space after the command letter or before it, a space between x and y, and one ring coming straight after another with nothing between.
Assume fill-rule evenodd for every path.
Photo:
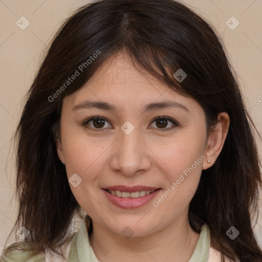
<instances>
[{"instance_id":1,"label":"woman's forehead, from the peaked hairline down to the eyebrows","mask_svg":"<svg viewBox=\"0 0 262 262\"><path fill-rule=\"evenodd\" d=\"M190 111L198 105L192 98L182 96L144 70L137 69L130 57L122 52L108 58L82 88L65 97L73 108L85 100L106 101L119 110L141 108L152 102L176 101Z\"/></svg>"}]
</instances>

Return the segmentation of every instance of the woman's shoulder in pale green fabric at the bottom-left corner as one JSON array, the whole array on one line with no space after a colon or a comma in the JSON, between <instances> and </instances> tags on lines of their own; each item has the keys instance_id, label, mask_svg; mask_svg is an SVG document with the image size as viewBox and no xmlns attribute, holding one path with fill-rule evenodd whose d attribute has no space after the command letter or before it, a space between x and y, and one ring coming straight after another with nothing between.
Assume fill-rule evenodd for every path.
<instances>
[{"instance_id":1,"label":"woman's shoulder in pale green fabric at the bottom-left corner","mask_svg":"<svg viewBox=\"0 0 262 262\"><path fill-rule=\"evenodd\" d=\"M32 245L27 242L14 243L3 250L0 262L46 262L45 254L32 251Z\"/></svg>"}]
</instances>

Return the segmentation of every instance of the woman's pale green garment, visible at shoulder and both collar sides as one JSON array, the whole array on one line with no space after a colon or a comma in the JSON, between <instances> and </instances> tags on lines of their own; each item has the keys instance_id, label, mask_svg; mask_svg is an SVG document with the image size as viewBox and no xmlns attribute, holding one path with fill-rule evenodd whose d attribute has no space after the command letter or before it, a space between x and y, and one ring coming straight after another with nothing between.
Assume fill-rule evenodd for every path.
<instances>
[{"instance_id":1,"label":"woman's pale green garment, visible at shoulder and both collar sides","mask_svg":"<svg viewBox=\"0 0 262 262\"><path fill-rule=\"evenodd\" d=\"M205 224L200 233L200 237L188 262L208 262L210 247L210 232L208 226ZM10 250L0 257L0 262L45 262L45 256L33 256L30 251ZM82 221L80 228L72 239L68 262L98 262L94 250L90 245L88 230L86 228L85 219Z\"/></svg>"}]
</instances>

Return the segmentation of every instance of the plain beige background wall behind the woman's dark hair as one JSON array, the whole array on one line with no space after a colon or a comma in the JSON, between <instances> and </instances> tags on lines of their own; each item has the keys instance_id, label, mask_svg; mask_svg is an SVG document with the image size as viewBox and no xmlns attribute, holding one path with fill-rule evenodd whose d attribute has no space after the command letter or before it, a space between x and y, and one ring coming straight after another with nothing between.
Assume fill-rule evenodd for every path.
<instances>
[{"instance_id":1,"label":"plain beige background wall behind the woman's dark hair","mask_svg":"<svg viewBox=\"0 0 262 262\"><path fill-rule=\"evenodd\" d=\"M142 0L143 1L143 0ZM83 0L0 0L0 252L16 216L12 199L15 185L11 138L21 113L21 101L32 83L40 54L63 19L90 1ZM261 134L262 130L262 1L181 1L206 17L224 39L229 59ZM21 30L16 21L25 16L30 25ZM231 30L226 21L234 16L239 26ZM19 21L19 20L18 20ZM231 23L231 20L229 20ZM234 26L236 21L232 20ZM259 141L260 156L262 146ZM30 145L29 145L30 146ZM255 232L262 244L262 220ZM241 233L241 232L240 232ZM261 238L261 239L260 239Z\"/></svg>"}]
</instances>

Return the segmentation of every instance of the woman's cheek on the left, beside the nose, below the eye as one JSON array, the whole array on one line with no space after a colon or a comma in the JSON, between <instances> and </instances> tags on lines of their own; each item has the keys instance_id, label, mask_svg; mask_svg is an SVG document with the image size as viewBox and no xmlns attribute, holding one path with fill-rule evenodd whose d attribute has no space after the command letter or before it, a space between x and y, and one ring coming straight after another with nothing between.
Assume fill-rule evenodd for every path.
<instances>
[{"instance_id":1,"label":"woman's cheek on the left, beside the nose, below the eye","mask_svg":"<svg viewBox=\"0 0 262 262\"><path fill-rule=\"evenodd\" d=\"M100 177L103 172L105 145L98 145L86 137L77 135L66 138L64 147L67 176L70 181L77 181L77 186L70 183L76 201L85 212L97 210L97 194L99 193ZM77 174L77 176L76 176ZM71 179L75 176L74 180ZM80 181L80 183L78 183Z\"/></svg>"}]
</instances>

